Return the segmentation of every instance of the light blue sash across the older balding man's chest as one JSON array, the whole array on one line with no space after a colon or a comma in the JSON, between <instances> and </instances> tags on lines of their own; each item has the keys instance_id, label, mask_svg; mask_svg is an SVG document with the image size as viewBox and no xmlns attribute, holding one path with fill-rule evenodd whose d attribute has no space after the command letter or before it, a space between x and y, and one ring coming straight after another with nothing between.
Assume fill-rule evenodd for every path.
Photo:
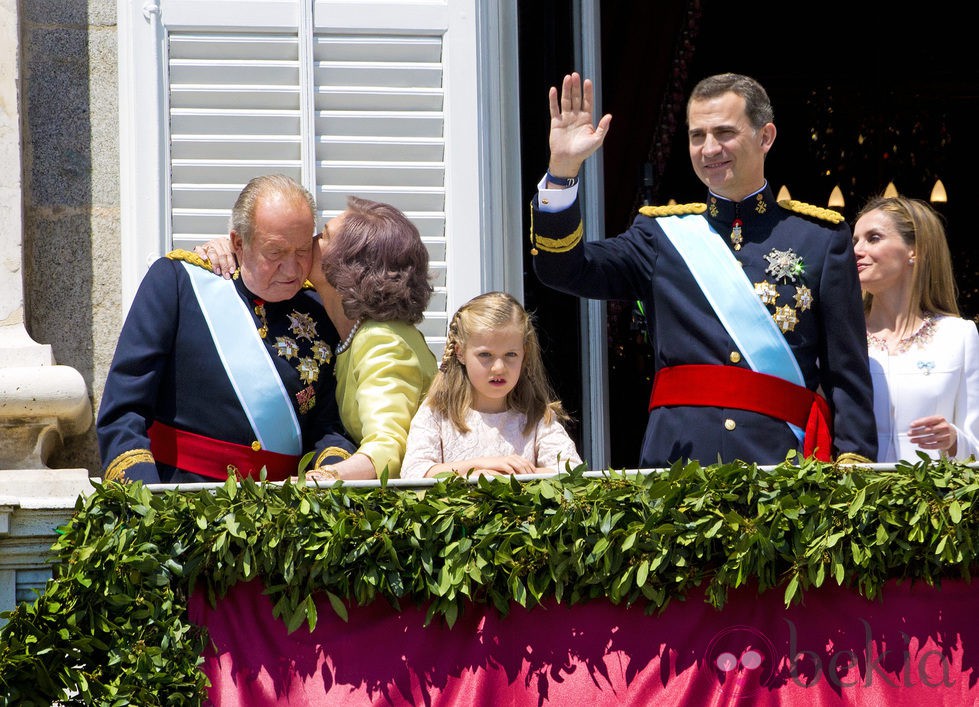
<instances>
[{"instance_id":1,"label":"light blue sash across the older balding man's chest","mask_svg":"<svg viewBox=\"0 0 979 707\"><path fill-rule=\"evenodd\" d=\"M196 265L183 266L255 438L270 452L301 453L302 432L292 400L234 283Z\"/></svg>"}]
</instances>

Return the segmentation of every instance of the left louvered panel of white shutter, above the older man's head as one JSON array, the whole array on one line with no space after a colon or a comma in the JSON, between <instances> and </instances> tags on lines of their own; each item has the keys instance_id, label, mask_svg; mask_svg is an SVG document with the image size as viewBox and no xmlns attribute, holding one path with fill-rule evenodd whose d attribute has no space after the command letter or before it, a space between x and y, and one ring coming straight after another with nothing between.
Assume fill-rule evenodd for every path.
<instances>
[{"instance_id":1,"label":"left louvered panel of white shutter, above the older man's head","mask_svg":"<svg viewBox=\"0 0 979 707\"><path fill-rule=\"evenodd\" d=\"M226 236L252 177L302 181L298 44L295 32L169 34L174 248Z\"/></svg>"}]
</instances>

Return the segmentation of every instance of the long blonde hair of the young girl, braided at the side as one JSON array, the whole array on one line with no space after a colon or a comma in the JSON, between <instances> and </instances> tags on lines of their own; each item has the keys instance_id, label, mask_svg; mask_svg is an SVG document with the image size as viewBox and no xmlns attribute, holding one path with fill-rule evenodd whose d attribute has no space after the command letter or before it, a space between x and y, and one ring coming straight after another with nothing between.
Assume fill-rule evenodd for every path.
<instances>
[{"instance_id":1,"label":"long blonde hair of the young girl, braided at the side","mask_svg":"<svg viewBox=\"0 0 979 707\"><path fill-rule=\"evenodd\" d=\"M527 416L525 434L533 430L541 418L546 422L554 418L561 422L568 419L548 382L541 360L540 342L530 314L506 292L487 292L459 307L449 322L442 363L426 401L435 412L449 418L460 432L469 431L466 414L472 407L473 395L472 385L459 356L473 334L492 333L508 326L523 331L524 360L520 378L507 394L507 409Z\"/></svg>"}]
</instances>

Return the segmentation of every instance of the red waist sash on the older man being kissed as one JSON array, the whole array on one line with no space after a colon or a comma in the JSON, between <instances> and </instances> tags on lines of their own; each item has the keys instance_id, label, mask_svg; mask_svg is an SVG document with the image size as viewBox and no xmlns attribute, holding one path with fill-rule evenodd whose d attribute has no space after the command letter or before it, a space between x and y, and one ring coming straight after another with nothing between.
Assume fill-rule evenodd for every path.
<instances>
[{"instance_id":1,"label":"red waist sash on the older man being kissed","mask_svg":"<svg viewBox=\"0 0 979 707\"><path fill-rule=\"evenodd\" d=\"M178 430L155 421L148 430L150 451L158 462L178 469L224 481L236 477L257 479L262 467L268 481L284 481L299 473L299 457L243 444L224 442L203 435Z\"/></svg>"}]
</instances>

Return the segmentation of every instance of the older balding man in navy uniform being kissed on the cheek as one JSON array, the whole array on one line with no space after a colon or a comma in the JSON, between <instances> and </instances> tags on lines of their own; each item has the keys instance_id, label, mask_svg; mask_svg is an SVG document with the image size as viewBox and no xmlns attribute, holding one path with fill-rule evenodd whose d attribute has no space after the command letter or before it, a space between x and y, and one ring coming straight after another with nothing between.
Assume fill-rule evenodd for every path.
<instances>
[{"instance_id":1,"label":"older balding man in navy uniform being kissed on the cheek","mask_svg":"<svg viewBox=\"0 0 979 707\"><path fill-rule=\"evenodd\" d=\"M106 479L269 480L346 458L336 329L315 291L315 204L292 179L251 180L235 203L233 279L174 251L147 272L119 336L97 423Z\"/></svg>"}]
</instances>

